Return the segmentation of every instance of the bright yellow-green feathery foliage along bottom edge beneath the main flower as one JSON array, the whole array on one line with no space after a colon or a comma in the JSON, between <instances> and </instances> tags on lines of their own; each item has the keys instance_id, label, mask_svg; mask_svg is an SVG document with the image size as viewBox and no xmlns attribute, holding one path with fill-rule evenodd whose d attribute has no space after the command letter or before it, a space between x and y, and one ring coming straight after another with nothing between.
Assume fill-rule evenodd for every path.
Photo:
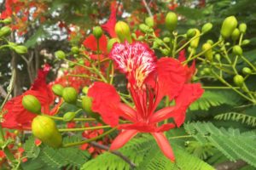
<instances>
[{"instance_id":1,"label":"bright yellow-green feathery foliage along bottom edge beneath the main flower","mask_svg":"<svg viewBox=\"0 0 256 170\"><path fill-rule=\"evenodd\" d=\"M138 139L132 139L119 151L127 156L137 167L143 170L169 170L169 169L205 169L212 170L206 162L201 161L195 156L189 155L177 144L172 144L176 156L176 162L173 163L164 156L159 146L151 136L143 135ZM104 153L97 156L96 159L88 161L82 169L104 170L104 169L130 169L131 167L118 156L111 153Z\"/></svg>"}]
</instances>

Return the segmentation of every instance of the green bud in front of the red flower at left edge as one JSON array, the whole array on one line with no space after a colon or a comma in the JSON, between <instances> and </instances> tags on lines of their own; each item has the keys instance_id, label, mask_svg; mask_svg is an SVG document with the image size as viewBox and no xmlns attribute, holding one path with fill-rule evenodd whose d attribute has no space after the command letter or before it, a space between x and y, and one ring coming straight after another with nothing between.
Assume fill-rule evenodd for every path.
<instances>
[{"instance_id":1,"label":"green bud in front of the red flower at left edge","mask_svg":"<svg viewBox=\"0 0 256 170\"><path fill-rule=\"evenodd\" d=\"M22 105L26 109L26 111L30 111L32 113L40 114L41 113L41 104L38 98L33 95L25 95L22 98Z\"/></svg>"}]
</instances>

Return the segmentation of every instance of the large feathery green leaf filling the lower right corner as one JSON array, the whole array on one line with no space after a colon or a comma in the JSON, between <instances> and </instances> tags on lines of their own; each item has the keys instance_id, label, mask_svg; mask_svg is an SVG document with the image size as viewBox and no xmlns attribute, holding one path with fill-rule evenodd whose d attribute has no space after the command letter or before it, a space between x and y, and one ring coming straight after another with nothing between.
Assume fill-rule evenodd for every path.
<instances>
[{"instance_id":1,"label":"large feathery green leaf filling the lower right corner","mask_svg":"<svg viewBox=\"0 0 256 170\"><path fill-rule=\"evenodd\" d=\"M226 130L215 127L211 122L188 123L184 127L187 133L202 144L212 143L230 161L241 159L256 167L255 132L241 133L233 128Z\"/></svg>"}]
</instances>

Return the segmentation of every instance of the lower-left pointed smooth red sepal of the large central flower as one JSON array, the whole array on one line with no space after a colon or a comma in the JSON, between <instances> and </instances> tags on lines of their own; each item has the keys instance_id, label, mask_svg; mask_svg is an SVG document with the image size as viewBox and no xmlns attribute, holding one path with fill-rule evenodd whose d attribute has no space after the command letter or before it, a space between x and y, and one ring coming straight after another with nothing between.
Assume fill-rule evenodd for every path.
<instances>
[{"instance_id":1,"label":"lower-left pointed smooth red sepal of the large central flower","mask_svg":"<svg viewBox=\"0 0 256 170\"><path fill-rule=\"evenodd\" d=\"M113 139L109 150L118 150L130 139L132 139L137 133L137 130L125 130L122 133L119 133L119 135L115 139Z\"/></svg>"}]
</instances>

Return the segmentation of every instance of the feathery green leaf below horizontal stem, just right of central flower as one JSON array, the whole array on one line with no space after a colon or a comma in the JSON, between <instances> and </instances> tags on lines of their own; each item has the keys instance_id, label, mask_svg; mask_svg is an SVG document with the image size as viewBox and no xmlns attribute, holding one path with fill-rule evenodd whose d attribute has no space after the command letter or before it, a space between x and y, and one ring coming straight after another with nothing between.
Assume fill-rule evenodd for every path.
<instances>
[{"instance_id":1,"label":"feathery green leaf below horizontal stem, just right of central flower","mask_svg":"<svg viewBox=\"0 0 256 170\"><path fill-rule=\"evenodd\" d=\"M234 99L235 94L232 91L210 91L207 90L197 99L192 105L190 105L190 111L208 111L212 106L218 105L235 105L238 99Z\"/></svg>"}]
</instances>

